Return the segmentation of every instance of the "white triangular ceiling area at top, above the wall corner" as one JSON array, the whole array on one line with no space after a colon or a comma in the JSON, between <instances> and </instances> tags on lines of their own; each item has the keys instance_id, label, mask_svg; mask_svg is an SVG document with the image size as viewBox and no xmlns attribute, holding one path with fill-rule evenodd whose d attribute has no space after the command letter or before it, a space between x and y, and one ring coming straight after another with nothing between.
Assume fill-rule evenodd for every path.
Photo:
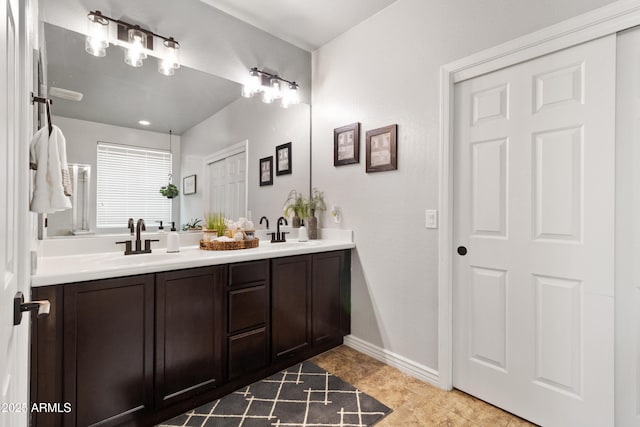
<instances>
[{"instance_id":1,"label":"white triangular ceiling area at top, above the wall corner","mask_svg":"<svg viewBox=\"0 0 640 427\"><path fill-rule=\"evenodd\" d=\"M396 0L200 0L304 50L325 43Z\"/></svg>"}]
</instances>

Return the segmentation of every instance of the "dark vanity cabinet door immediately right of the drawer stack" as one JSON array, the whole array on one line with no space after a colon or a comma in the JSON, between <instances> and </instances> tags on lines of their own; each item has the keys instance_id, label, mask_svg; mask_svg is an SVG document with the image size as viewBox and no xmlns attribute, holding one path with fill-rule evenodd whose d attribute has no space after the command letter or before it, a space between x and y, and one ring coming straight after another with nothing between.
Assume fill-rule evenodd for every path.
<instances>
[{"instance_id":1,"label":"dark vanity cabinet door immediately right of the drawer stack","mask_svg":"<svg viewBox=\"0 0 640 427\"><path fill-rule=\"evenodd\" d=\"M271 334L275 359L311 345L311 255L276 258L271 264Z\"/></svg>"}]
</instances>

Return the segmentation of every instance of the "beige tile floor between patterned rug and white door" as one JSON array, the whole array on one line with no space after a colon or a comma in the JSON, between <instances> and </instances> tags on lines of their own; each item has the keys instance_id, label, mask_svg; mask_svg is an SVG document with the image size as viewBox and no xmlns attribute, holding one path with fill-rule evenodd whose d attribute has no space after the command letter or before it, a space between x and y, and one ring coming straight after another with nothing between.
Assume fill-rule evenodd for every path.
<instances>
[{"instance_id":1,"label":"beige tile floor between patterned rug and white door","mask_svg":"<svg viewBox=\"0 0 640 427\"><path fill-rule=\"evenodd\" d=\"M440 390L344 345L311 361L393 409L376 427L534 426L461 391Z\"/></svg>"}]
</instances>

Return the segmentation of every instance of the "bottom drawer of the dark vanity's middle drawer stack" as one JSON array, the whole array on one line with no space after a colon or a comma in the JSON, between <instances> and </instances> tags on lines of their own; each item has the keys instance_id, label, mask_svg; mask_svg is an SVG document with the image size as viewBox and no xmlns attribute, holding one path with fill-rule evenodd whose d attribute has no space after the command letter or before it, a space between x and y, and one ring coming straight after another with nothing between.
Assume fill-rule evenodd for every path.
<instances>
[{"instance_id":1,"label":"bottom drawer of the dark vanity's middle drawer stack","mask_svg":"<svg viewBox=\"0 0 640 427\"><path fill-rule=\"evenodd\" d=\"M229 380L267 366L267 329L229 337Z\"/></svg>"}]
</instances>

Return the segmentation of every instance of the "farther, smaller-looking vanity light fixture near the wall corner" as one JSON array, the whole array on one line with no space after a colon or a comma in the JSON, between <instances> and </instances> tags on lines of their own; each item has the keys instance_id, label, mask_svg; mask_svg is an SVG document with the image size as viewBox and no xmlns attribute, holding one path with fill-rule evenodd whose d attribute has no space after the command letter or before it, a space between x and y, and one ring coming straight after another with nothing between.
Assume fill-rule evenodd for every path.
<instances>
[{"instance_id":1,"label":"farther, smaller-looking vanity light fixture near the wall corner","mask_svg":"<svg viewBox=\"0 0 640 427\"><path fill-rule=\"evenodd\" d=\"M298 84L283 79L277 74L267 73L253 67L249 70L249 78L242 86L242 96L251 98L254 95L261 94L262 102L271 104L279 99L282 107L287 108L289 105L298 104L300 98L298 96Z\"/></svg>"}]
</instances>

